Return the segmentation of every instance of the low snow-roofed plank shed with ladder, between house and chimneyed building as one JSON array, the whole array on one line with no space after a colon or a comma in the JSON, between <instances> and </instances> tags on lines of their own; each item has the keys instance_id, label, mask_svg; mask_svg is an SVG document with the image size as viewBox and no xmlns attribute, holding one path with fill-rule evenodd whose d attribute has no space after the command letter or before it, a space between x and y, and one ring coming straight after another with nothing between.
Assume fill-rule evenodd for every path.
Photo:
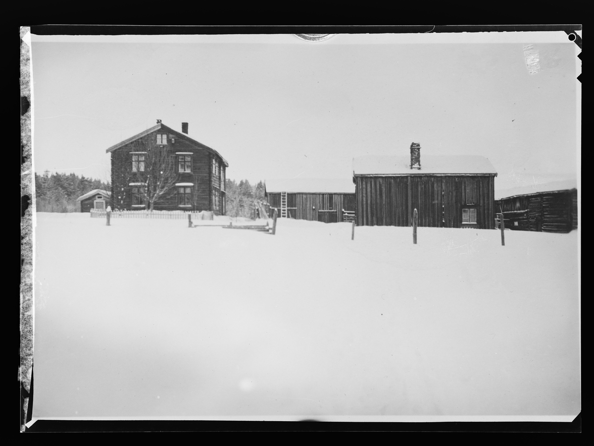
<instances>
[{"instance_id":1,"label":"low snow-roofed plank shed with ladder, between house and chimneyed building","mask_svg":"<svg viewBox=\"0 0 594 446\"><path fill-rule=\"evenodd\" d=\"M352 221L355 215L355 185L346 178L266 181L264 193L280 218L336 223Z\"/></svg>"}]
</instances>

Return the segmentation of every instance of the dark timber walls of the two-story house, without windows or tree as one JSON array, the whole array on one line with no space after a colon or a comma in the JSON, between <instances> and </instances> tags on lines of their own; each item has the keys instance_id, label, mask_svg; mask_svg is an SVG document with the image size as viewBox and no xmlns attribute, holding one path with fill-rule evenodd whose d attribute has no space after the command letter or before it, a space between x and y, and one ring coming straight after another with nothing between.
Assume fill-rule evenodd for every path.
<instances>
[{"instance_id":1,"label":"dark timber walls of the two-story house, without windows or tree","mask_svg":"<svg viewBox=\"0 0 594 446\"><path fill-rule=\"evenodd\" d=\"M156 138L156 131L146 136L146 138ZM130 143L123 147L119 147L111 154L111 177L112 177L112 190L110 206L113 209L144 209L144 208L132 208L132 187L129 183L137 182L137 177L132 173L132 155L130 152L135 152L137 147L134 143ZM172 157L176 156L176 152L191 152L192 153L192 171L178 173L177 183L194 183L192 187L192 211L212 211L212 190L216 184L217 187L222 187L220 184L220 178L216 179L212 175L212 159L213 153L208 152L206 149L197 147L196 145L180 138L175 137L175 143L168 145L168 150ZM225 168L222 159L219 159L220 164ZM176 160L175 160L176 162ZM177 166L177 162L176 162ZM224 188L224 186L223 186ZM224 193L220 194L221 201L224 202ZM159 202L154 204L155 210L172 211L176 209L188 209L185 207L178 206L177 188L174 186L168 194L162 196ZM220 214L225 211L224 206L219 206L219 211L216 213Z\"/></svg>"}]
</instances>

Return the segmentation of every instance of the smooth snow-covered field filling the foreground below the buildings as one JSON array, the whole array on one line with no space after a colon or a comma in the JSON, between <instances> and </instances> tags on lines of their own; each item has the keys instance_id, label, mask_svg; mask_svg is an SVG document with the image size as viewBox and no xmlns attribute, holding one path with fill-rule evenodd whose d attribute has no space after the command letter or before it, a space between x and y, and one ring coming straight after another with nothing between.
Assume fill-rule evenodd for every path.
<instances>
[{"instance_id":1,"label":"smooth snow-covered field filling the foreground below the buildings","mask_svg":"<svg viewBox=\"0 0 594 446\"><path fill-rule=\"evenodd\" d=\"M580 412L576 231L187 226L37 213L34 417Z\"/></svg>"}]
</instances>

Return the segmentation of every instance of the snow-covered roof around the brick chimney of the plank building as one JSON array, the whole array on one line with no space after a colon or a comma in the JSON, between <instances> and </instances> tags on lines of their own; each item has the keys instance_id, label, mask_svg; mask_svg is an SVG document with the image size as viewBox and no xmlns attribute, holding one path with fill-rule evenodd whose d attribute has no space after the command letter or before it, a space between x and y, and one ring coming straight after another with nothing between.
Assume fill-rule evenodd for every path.
<instances>
[{"instance_id":1,"label":"snow-covered roof around the brick chimney of the plank building","mask_svg":"<svg viewBox=\"0 0 594 446\"><path fill-rule=\"evenodd\" d=\"M421 155L421 169L410 168L410 156L353 158L353 175L497 175L491 162L478 155Z\"/></svg>"}]
</instances>

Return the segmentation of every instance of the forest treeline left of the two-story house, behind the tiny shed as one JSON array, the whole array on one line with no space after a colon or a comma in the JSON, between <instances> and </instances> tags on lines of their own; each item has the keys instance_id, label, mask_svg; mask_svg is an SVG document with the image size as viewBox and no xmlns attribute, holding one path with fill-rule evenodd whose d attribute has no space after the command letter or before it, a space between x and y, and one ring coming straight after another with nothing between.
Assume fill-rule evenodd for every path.
<instances>
[{"instance_id":1,"label":"forest treeline left of the two-story house, behind the tiny shed","mask_svg":"<svg viewBox=\"0 0 594 446\"><path fill-rule=\"evenodd\" d=\"M78 177L76 174L35 174L35 208L37 212L74 212L76 199L94 189L110 191L109 181Z\"/></svg>"}]
</instances>

